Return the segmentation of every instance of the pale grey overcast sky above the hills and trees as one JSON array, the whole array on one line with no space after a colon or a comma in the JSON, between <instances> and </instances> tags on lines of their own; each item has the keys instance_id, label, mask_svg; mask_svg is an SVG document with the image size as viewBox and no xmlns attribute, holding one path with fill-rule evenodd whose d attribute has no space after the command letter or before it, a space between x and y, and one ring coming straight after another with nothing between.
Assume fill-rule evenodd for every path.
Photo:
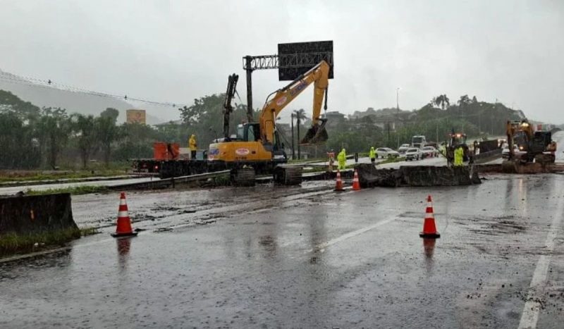
<instances>
[{"instance_id":1,"label":"pale grey overcast sky above the hills and trees","mask_svg":"<svg viewBox=\"0 0 564 329\"><path fill-rule=\"evenodd\" d=\"M333 40L330 111L396 106L400 87L403 109L469 94L564 123L560 0L0 0L0 8L0 69L76 87L192 103L224 92L238 73L245 100L243 56ZM253 73L255 107L285 84L276 70ZM290 108L311 104L308 92Z\"/></svg>"}]
</instances>

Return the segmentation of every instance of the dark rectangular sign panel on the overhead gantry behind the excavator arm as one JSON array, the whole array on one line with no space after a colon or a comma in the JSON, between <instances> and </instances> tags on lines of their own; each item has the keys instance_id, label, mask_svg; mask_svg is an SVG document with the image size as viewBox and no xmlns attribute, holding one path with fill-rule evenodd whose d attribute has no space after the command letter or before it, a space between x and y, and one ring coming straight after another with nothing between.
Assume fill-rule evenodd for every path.
<instances>
[{"instance_id":1,"label":"dark rectangular sign panel on the overhead gantry behind the excavator arm","mask_svg":"<svg viewBox=\"0 0 564 329\"><path fill-rule=\"evenodd\" d=\"M278 80L295 80L321 61L329 63L333 79L333 41L278 44Z\"/></svg>"}]
</instances>

